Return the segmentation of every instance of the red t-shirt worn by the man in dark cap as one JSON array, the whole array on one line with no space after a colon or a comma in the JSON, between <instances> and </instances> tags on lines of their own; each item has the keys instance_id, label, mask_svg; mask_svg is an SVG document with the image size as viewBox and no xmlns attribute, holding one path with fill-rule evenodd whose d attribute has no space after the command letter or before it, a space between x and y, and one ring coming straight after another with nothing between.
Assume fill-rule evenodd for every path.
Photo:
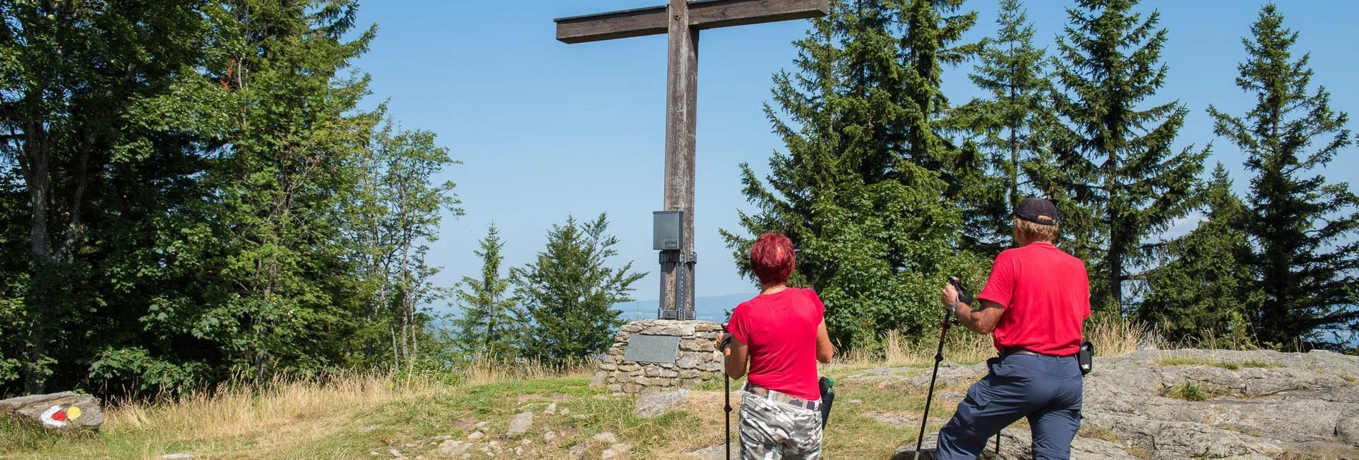
<instances>
[{"instance_id":1,"label":"red t-shirt worn by the man in dark cap","mask_svg":"<svg viewBox=\"0 0 1359 460\"><path fill-rule=\"evenodd\" d=\"M993 332L996 350L1021 347L1057 357L1080 350L1090 279L1086 264L1057 246L1034 242L1002 252L977 298L1006 308Z\"/></svg>"}]
</instances>

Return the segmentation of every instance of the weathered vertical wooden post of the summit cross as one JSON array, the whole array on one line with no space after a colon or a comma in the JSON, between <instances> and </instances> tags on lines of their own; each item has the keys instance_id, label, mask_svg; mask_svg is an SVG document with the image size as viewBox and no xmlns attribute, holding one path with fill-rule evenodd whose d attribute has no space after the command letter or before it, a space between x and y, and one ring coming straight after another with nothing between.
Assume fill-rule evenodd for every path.
<instances>
[{"instance_id":1,"label":"weathered vertical wooden post of the summit cross","mask_svg":"<svg viewBox=\"0 0 1359 460\"><path fill-rule=\"evenodd\" d=\"M699 103L699 30L689 26L689 1L670 0L666 71L665 211L681 211L680 250L660 253L662 320L693 320L693 182Z\"/></svg>"}]
</instances>

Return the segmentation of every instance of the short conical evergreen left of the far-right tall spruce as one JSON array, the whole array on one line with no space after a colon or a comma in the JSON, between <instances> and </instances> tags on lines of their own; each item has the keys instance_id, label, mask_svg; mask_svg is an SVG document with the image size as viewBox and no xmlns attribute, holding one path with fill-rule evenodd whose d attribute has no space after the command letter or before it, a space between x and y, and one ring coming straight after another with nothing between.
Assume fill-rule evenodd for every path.
<instances>
[{"instance_id":1,"label":"short conical evergreen left of the far-right tall spruce","mask_svg":"<svg viewBox=\"0 0 1359 460\"><path fill-rule=\"evenodd\" d=\"M1166 263L1148 272L1150 291L1136 312L1137 320L1178 343L1248 338L1243 321L1258 299L1249 265L1252 248L1242 230L1246 207L1231 192L1222 163L1203 193L1204 219L1167 245Z\"/></svg>"}]
</instances>

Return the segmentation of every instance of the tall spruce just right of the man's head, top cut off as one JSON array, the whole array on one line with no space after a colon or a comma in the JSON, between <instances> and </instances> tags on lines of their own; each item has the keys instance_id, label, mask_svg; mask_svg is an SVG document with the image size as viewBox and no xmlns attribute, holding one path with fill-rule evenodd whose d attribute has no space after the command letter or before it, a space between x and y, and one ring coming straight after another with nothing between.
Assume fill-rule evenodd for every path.
<instances>
[{"instance_id":1,"label":"tall spruce just right of the man's head, top cut off","mask_svg":"<svg viewBox=\"0 0 1359 460\"><path fill-rule=\"evenodd\" d=\"M1165 83L1167 67L1158 64L1166 44L1161 15L1142 20L1132 12L1136 3L1078 0L1067 10L1072 23L1057 39L1055 63L1064 90L1057 112L1067 121L1057 136L1070 142L1055 155L1065 171L1063 233L1097 244L1074 249L1094 256L1091 305L1106 312L1132 303L1124 283L1151 261L1152 238L1197 204L1196 178L1208 155L1171 148L1188 113L1182 105L1137 108Z\"/></svg>"}]
</instances>

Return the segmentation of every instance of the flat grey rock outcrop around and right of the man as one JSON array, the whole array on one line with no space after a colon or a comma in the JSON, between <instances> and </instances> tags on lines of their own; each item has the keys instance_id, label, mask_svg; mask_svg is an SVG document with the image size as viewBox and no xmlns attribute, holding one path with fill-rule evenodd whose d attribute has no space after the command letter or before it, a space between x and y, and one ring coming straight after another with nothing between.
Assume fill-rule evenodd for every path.
<instances>
[{"instance_id":1,"label":"flat grey rock outcrop around and right of the man","mask_svg":"<svg viewBox=\"0 0 1359 460\"><path fill-rule=\"evenodd\" d=\"M849 378L896 376L928 385L928 369L900 370ZM940 380L970 382L985 372L984 363L947 366ZM1148 350L1097 358L1084 382L1084 422L1072 457L1359 459L1356 382L1359 358L1328 351ZM1006 429L999 457L1029 459L1027 448L1027 429ZM911 457L913 449L905 446L897 457Z\"/></svg>"}]
</instances>

